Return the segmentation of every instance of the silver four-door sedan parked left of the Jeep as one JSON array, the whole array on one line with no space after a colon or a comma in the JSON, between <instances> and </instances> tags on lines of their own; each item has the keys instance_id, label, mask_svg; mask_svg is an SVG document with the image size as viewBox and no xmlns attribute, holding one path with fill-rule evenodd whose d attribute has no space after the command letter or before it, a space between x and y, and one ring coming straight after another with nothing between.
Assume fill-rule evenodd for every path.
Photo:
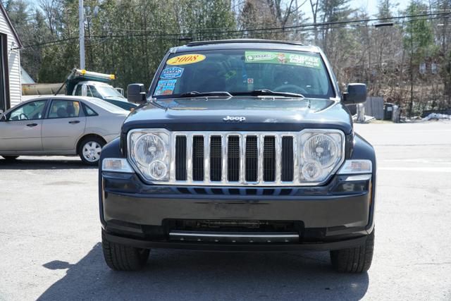
<instances>
[{"instance_id":1,"label":"silver four-door sedan parked left of the Jeep","mask_svg":"<svg viewBox=\"0 0 451 301\"><path fill-rule=\"evenodd\" d=\"M0 156L76 155L98 164L101 148L118 137L130 111L93 97L37 97L0 118Z\"/></svg>"}]
</instances>

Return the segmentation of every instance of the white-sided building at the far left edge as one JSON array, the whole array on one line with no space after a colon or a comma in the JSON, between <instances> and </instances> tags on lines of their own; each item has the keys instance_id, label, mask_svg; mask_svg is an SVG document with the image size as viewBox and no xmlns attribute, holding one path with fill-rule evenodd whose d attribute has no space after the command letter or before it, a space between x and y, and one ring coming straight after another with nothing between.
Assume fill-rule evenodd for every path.
<instances>
[{"instance_id":1,"label":"white-sided building at the far left edge","mask_svg":"<svg viewBox=\"0 0 451 301\"><path fill-rule=\"evenodd\" d=\"M0 112L15 106L22 97L20 54L22 43L0 2Z\"/></svg>"}]
</instances>

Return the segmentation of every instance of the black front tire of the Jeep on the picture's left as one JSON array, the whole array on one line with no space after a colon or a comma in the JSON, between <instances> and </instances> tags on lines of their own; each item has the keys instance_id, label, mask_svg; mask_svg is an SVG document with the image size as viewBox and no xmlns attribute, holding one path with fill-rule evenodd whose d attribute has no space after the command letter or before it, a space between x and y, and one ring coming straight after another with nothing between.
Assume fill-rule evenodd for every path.
<instances>
[{"instance_id":1,"label":"black front tire of the Jeep on the picture's left","mask_svg":"<svg viewBox=\"0 0 451 301\"><path fill-rule=\"evenodd\" d=\"M149 258L148 249L129 247L110 242L104 232L101 233L101 247L104 250L106 264L115 271L138 271L142 269Z\"/></svg>"}]
</instances>

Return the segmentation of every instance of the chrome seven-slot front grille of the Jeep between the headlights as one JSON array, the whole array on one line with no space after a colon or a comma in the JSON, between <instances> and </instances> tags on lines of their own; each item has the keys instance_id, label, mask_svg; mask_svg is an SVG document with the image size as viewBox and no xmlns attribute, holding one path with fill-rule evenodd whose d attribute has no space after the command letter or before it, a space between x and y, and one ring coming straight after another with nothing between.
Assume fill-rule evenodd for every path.
<instances>
[{"instance_id":1,"label":"chrome seven-slot front grille of the Jeep between the headlights","mask_svg":"<svg viewBox=\"0 0 451 301\"><path fill-rule=\"evenodd\" d=\"M297 137L297 133L175 132L171 182L297 185Z\"/></svg>"}]
</instances>

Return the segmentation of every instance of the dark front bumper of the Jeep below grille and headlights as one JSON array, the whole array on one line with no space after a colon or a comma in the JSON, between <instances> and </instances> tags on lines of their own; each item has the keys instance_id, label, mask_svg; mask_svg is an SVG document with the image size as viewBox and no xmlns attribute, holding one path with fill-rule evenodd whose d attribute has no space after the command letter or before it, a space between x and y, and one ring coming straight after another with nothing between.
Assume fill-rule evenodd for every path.
<instances>
[{"instance_id":1,"label":"dark front bumper of the Jeep below grille and headlights","mask_svg":"<svg viewBox=\"0 0 451 301\"><path fill-rule=\"evenodd\" d=\"M371 175L335 176L328 185L303 188L147 185L136 174L111 172L101 172L100 180L101 221L106 238L135 247L335 250L362 245L373 230ZM171 231L176 229L168 221L186 220L293 221L299 240L174 240ZM207 231L215 233L215 229Z\"/></svg>"}]
</instances>

